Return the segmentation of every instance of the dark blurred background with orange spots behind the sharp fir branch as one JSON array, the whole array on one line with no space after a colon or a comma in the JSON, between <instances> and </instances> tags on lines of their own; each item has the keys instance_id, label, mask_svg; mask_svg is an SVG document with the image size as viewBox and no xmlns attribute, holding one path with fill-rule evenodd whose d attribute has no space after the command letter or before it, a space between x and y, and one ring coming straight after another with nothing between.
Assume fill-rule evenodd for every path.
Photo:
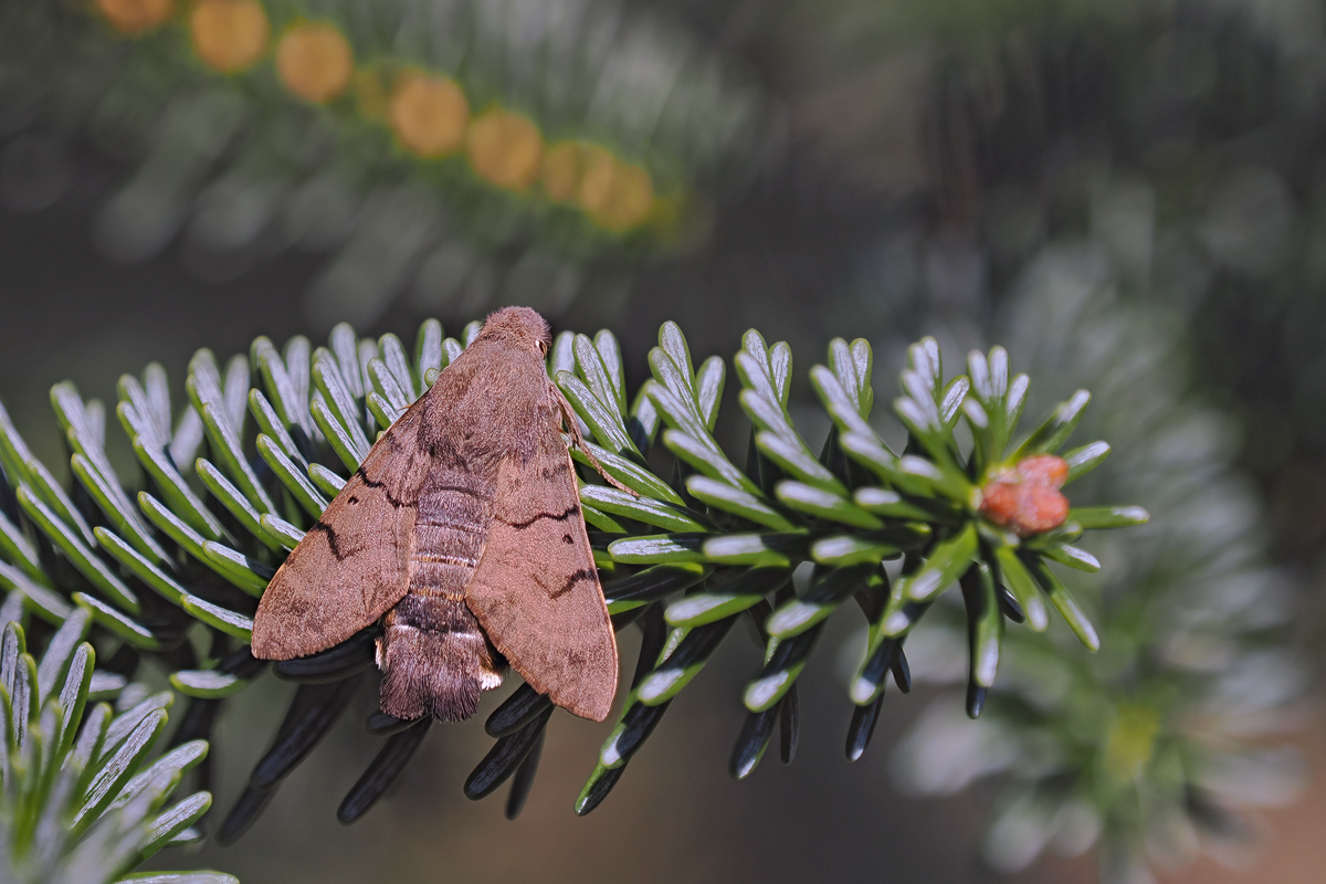
<instances>
[{"instance_id":1,"label":"dark blurred background with orange spots behind the sharp fir branch","mask_svg":"<svg viewBox=\"0 0 1326 884\"><path fill-rule=\"evenodd\" d=\"M908 644L926 687L849 765L863 637L835 620L796 762L737 783L760 649L735 635L585 819L606 725L560 716L517 822L460 793L487 751L471 722L342 830L366 692L244 839L188 863L251 884L1319 880L1321 0L0 0L0 399L53 468L54 382L114 402L158 360L183 399L198 347L457 334L525 304L611 329L631 390L664 319L699 357L785 339L812 445L830 338L874 346L880 403L919 335L949 374L1004 345L1029 416L1094 394L1075 440L1115 453L1074 502L1152 514L1075 583L1102 652L1010 631L979 724L940 608ZM720 423L729 451L745 432ZM221 812L290 689L228 706Z\"/></svg>"}]
</instances>

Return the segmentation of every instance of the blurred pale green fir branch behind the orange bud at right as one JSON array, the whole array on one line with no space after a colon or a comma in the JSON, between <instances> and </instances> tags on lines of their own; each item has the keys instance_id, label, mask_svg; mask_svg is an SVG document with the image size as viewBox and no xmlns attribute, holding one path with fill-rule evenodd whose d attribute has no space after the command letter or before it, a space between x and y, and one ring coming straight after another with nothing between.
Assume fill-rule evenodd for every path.
<instances>
[{"instance_id":1,"label":"blurred pale green fir branch behind the orange bud at right","mask_svg":"<svg viewBox=\"0 0 1326 884\"><path fill-rule=\"evenodd\" d=\"M1103 249L1050 247L1009 317L1028 364L1099 391L1083 425L1109 428L1120 453L1083 482L1085 497L1126 493L1156 513L1127 543L1095 546L1111 563L1085 595L1103 652L1065 657L1073 639L1062 631L1010 631L991 714L973 726L943 696L892 759L912 793L993 779L984 854L1000 871L1095 846L1107 884L1151 880L1148 865L1244 839L1248 810L1292 798L1301 759L1269 738L1305 688L1280 641L1288 582L1249 537L1261 514L1211 441L1220 415L1184 395L1184 357L1168 331L1177 321L1154 302L1116 300L1115 272ZM1070 463L1098 463L1099 449L1078 451ZM1115 518L1075 513L1082 524ZM922 677L964 679L948 663L967 641L964 619L957 606L936 606L912 644Z\"/></svg>"}]
</instances>

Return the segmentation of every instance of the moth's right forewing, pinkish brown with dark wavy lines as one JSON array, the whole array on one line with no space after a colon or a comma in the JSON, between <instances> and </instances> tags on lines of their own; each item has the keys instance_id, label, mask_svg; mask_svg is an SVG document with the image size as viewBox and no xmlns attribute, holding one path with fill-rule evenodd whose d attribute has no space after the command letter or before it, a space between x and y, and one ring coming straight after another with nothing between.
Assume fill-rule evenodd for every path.
<instances>
[{"instance_id":1,"label":"moth's right forewing, pinkish brown with dark wavy lines","mask_svg":"<svg viewBox=\"0 0 1326 884\"><path fill-rule=\"evenodd\" d=\"M617 692L617 637L546 375L537 382L541 425L497 469L492 529L465 602L525 681L602 721Z\"/></svg>"}]
</instances>

